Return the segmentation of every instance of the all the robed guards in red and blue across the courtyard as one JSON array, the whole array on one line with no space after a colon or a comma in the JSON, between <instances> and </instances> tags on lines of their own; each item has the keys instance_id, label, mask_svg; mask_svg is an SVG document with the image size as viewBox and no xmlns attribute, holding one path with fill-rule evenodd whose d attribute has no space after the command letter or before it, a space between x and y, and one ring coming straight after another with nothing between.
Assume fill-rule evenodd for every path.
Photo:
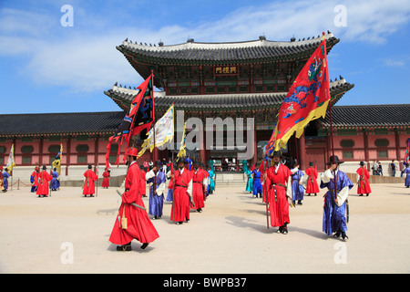
<instances>
[{"instance_id":1,"label":"all the robed guards in red and blue across the courtyard","mask_svg":"<svg viewBox=\"0 0 410 292\"><path fill-rule=\"evenodd\" d=\"M167 173L161 162L156 162L151 170L145 172L144 166L138 167L136 148L129 148L125 155L128 165L125 192L121 194L122 201L118 216L109 237L112 244L118 245L118 251L131 250L133 239L142 243L141 249L145 249L149 243L159 237L149 215L153 216L153 220L161 218L164 200L172 202L170 220L176 224L183 224L190 222L191 209L202 212L207 196L215 191L213 165L210 165L207 171L201 162L179 158ZM317 195L319 184L317 183L318 172L316 167L313 167L313 162L310 162L310 167L303 173L297 161L285 165L281 158L280 151L273 151L272 158L267 158L266 162L261 165L256 164L256 167L252 167L252 171L246 167L244 171L248 173L246 191L256 197L259 195L263 203L266 203L267 214L270 215L268 227L269 224L272 227L279 227L277 233L286 235L288 234L287 225L291 223L289 206L294 206L296 202L302 204L304 192L307 195ZM347 240L346 231L349 219L348 210L346 218L347 198L354 183L345 172L340 171L341 163L343 162L336 155L331 156L329 162L326 163L327 170L320 176L320 188L327 188L327 192L323 195L323 232L326 235ZM408 163L405 166L405 187L409 187L410 167ZM356 173L357 193L361 196L365 193L368 196L372 191L368 181L369 172L364 167L364 162L360 162ZM1 187L2 191L6 192L9 177L7 169L2 174ZM102 187L109 187L109 176L109 170L106 169L103 172ZM97 169L92 171L91 165L88 165L84 177L83 194L94 196ZM169 185L167 197L165 197L167 179L169 179ZM49 190L56 191L60 186L56 168L47 172L46 166L42 167L41 172L36 167L31 174L30 181L32 183L31 192L36 193L38 197L46 197ZM50 185L48 182L51 182ZM148 213L142 201L142 197L146 196L146 183L150 183Z\"/></svg>"}]
</instances>

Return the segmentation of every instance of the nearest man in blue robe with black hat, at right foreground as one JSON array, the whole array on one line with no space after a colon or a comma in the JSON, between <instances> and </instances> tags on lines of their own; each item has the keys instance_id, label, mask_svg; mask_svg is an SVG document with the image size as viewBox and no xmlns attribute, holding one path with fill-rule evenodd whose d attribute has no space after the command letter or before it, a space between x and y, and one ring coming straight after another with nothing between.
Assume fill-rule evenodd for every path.
<instances>
[{"instance_id":1,"label":"nearest man in blue robe with black hat, at right foreground","mask_svg":"<svg viewBox=\"0 0 410 292\"><path fill-rule=\"evenodd\" d=\"M346 204L349 190L354 184L349 180L346 173L341 172L339 158L334 155L330 157L331 167L321 175L321 189L329 191L324 196L323 206L323 232L326 235L340 237L347 240Z\"/></svg>"}]
</instances>

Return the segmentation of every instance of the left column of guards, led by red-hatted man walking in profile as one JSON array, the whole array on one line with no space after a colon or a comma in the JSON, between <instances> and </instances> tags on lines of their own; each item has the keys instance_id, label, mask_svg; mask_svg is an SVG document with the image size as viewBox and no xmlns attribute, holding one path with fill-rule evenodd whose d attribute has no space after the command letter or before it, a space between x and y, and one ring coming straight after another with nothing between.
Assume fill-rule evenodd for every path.
<instances>
[{"instance_id":1,"label":"left column of guards, led by red-hatted man walking in profile","mask_svg":"<svg viewBox=\"0 0 410 292\"><path fill-rule=\"evenodd\" d=\"M121 205L109 241L118 245L118 251L130 251L131 241L138 240L145 249L159 234L149 219L149 214L156 220L162 216L163 202L172 201L170 220L176 224L190 222L190 210L201 213L205 201L210 193L215 190L213 170L204 169L200 162L179 158L176 169L171 167L169 172L162 171L161 162L155 162L153 168L144 173L144 167L138 167L136 148L129 148L127 156L128 172L125 180L125 192L121 195ZM167 198L165 183L169 178ZM145 210L142 197L145 183L151 183L149 188L149 212Z\"/></svg>"}]
</instances>

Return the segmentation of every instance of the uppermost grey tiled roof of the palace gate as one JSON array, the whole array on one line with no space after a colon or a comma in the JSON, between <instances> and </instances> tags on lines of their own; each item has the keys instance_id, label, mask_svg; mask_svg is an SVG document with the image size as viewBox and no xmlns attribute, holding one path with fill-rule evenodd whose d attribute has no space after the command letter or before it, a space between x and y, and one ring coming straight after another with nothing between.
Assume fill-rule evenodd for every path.
<instances>
[{"instance_id":1,"label":"uppermost grey tiled roof of the palace gate","mask_svg":"<svg viewBox=\"0 0 410 292\"><path fill-rule=\"evenodd\" d=\"M326 47L330 50L340 39L332 33L325 35ZM117 49L128 61L149 61L152 64L228 64L247 61L272 61L274 59L298 59L310 56L323 40L323 36L292 41L259 40L231 43L197 43L190 39L185 44L171 46L139 45L124 40ZM131 57L132 56L132 57Z\"/></svg>"}]
</instances>

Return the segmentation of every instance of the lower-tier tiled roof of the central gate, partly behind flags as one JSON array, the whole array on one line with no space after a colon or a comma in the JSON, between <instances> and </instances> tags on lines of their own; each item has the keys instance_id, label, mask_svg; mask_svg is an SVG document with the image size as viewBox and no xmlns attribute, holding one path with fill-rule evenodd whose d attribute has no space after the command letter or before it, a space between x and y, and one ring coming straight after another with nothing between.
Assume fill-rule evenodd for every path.
<instances>
[{"instance_id":1,"label":"lower-tier tiled roof of the central gate, partly behind flags","mask_svg":"<svg viewBox=\"0 0 410 292\"><path fill-rule=\"evenodd\" d=\"M331 95L340 94L336 97L340 99L343 93L354 87L345 79L330 83ZM113 99L123 110L128 110L132 99L137 95L138 90L126 89L113 86L112 89L104 93ZM165 96L164 92L155 92L156 109L167 110L174 102L176 109L180 110L256 110L263 108L279 108L287 92L267 92L267 93L236 93L236 94L207 94L207 95L181 95Z\"/></svg>"}]
</instances>

